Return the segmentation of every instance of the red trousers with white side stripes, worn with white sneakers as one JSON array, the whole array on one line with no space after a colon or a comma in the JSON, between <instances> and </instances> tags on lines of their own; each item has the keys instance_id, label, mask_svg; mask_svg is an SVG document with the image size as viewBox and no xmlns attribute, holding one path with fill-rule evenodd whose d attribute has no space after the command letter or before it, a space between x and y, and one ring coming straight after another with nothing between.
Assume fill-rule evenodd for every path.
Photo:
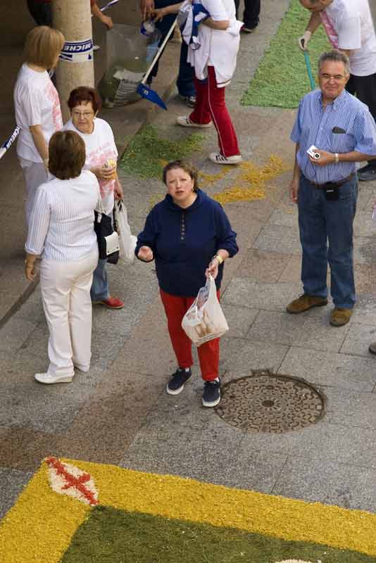
<instances>
[{"instance_id":1,"label":"red trousers with white side stripes, worn with white sneakers","mask_svg":"<svg viewBox=\"0 0 376 563\"><path fill-rule=\"evenodd\" d=\"M218 145L223 156L240 154L237 134L227 111L225 88L218 88L213 66L208 66L208 79L194 77L196 106L189 119L195 123L210 123L213 120L218 133Z\"/></svg>"}]
</instances>

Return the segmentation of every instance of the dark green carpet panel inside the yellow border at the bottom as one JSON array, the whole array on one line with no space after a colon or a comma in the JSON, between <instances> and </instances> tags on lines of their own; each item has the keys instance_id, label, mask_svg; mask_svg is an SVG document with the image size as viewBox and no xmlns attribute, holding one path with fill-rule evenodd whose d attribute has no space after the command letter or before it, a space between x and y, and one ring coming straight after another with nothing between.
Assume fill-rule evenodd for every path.
<instances>
[{"instance_id":1,"label":"dark green carpet panel inside the yellow border at the bottom","mask_svg":"<svg viewBox=\"0 0 376 563\"><path fill-rule=\"evenodd\" d=\"M208 507L208 510L209 507ZM375 563L375 557L208 524L95 507L61 563Z\"/></svg>"}]
</instances>

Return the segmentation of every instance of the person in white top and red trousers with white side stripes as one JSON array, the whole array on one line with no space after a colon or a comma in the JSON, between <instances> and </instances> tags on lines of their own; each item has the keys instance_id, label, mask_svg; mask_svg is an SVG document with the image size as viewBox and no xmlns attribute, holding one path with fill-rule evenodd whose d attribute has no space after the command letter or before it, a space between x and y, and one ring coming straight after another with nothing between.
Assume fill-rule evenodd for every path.
<instances>
[{"instance_id":1,"label":"person in white top and red trousers with white side stripes","mask_svg":"<svg viewBox=\"0 0 376 563\"><path fill-rule=\"evenodd\" d=\"M160 19L180 8L187 9L189 4L201 4L209 16L200 23L196 43L190 43L188 49L187 60L195 74L196 106L189 116L177 118L177 123L183 127L210 127L213 121L220 150L211 153L209 159L217 164L237 164L242 156L225 103L225 87L237 65L242 22L235 18L234 0L185 1L154 13Z\"/></svg>"}]
</instances>

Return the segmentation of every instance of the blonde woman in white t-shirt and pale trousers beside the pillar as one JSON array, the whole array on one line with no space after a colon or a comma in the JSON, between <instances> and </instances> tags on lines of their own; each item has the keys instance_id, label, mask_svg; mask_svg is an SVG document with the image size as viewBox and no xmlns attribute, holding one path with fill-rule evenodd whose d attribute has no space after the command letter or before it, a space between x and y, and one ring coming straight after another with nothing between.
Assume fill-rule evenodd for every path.
<instances>
[{"instance_id":1,"label":"blonde woman in white t-shirt and pale trousers beside the pillar","mask_svg":"<svg viewBox=\"0 0 376 563\"><path fill-rule=\"evenodd\" d=\"M26 222L38 186L48 179L48 146L54 132L63 127L60 101L48 69L54 68L64 36L41 25L27 34L26 62L20 68L14 89L15 120L21 128L17 155L26 182Z\"/></svg>"}]
</instances>

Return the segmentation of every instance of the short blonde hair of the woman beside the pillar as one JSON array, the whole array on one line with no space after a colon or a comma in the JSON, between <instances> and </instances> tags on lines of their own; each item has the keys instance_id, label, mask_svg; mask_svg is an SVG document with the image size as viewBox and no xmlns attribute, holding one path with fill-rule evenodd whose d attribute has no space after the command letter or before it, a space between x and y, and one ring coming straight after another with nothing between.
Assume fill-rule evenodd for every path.
<instances>
[{"instance_id":1,"label":"short blonde hair of the woman beside the pillar","mask_svg":"<svg viewBox=\"0 0 376 563\"><path fill-rule=\"evenodd\" d=\"M25 59L27 63L52 68L58 53L63 49L63 34L47 25L34 27L26 37Z\"/></svg>"}]
</instances>

